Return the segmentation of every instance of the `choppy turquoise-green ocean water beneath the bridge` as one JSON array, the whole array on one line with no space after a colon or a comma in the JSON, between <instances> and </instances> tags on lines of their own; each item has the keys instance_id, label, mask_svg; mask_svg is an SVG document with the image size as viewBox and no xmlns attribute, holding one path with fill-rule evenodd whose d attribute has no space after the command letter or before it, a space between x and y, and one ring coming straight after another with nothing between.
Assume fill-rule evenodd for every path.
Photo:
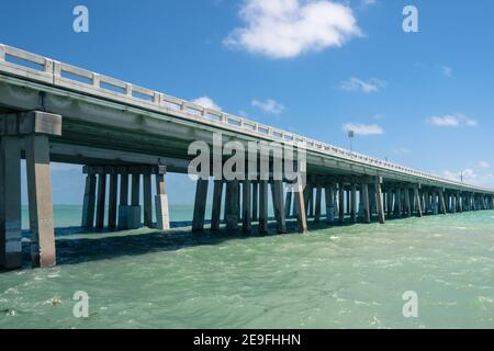
<instances>
[{"instance_id":1,"label":"choppy turquoise-green ocean water beneath the bridge","mask_svg":"<svg viewBox=\"0 0 494 351\"><path fill-rule=\"evenodd\" d=\"M79 217L55 208L57 226ZM0 328L494 328L494 212L312 227L58 230L56 268L0 273ZM77 291L88 318L74 317Z\"/></svg>"}]
</instances>

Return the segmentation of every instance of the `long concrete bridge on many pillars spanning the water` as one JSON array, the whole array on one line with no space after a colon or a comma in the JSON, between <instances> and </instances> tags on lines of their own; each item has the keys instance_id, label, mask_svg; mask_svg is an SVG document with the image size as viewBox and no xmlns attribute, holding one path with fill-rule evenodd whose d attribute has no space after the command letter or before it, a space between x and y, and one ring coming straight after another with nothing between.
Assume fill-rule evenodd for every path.
<instances>
[{"instance_id":1,"label":"long concrete bridge on many pillars spanning the water","mask_svg":"<svg viewBox=\"0 0 494 351\"><path fill-rule=\"evenodd\" d=\"M144 213L145 226L166 230L167 172L186 173L192 158L189 145L195 140L211 145L218 132L224 143L263 140L304 148L306 162L300 172L306 174L307 184L292 193L285 191L283 179L215 179L211 230L225 223L227 230L242 227L248 234L254 223L259 233L267 233L269 197L278 233L285 233L287 222L295 219L304 233L311 218L384 224L390 217L494 208L493 190L350 152L0 45L1 267L15 269L22 263L21 158L26 160L32 263L50 267L56 262L50 161L86 166L83 227L136 228ZM209 185L207 180L198 180L194 231L204 230Z\"/></svg>"}]
</instances>

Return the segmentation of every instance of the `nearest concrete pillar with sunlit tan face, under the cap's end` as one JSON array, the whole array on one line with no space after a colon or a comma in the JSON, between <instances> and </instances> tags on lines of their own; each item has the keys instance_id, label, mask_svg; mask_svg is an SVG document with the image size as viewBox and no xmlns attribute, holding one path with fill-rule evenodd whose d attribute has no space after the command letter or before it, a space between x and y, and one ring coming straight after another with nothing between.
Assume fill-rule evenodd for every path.
<instances>
[{"instance_id":1,"label":"nearest concrete pillar with sunlit tan face, under the cap's end","mask_svg":"<svg viewBox=\"0 0 494 351\"><path fill-rule=\"evenodd\" d=\"M31 228L31 262L33 267L54 267L56 264L56 250L49 172L49 140L47 135L29 135L24 140Z\"/></svg>"}]
</instances>

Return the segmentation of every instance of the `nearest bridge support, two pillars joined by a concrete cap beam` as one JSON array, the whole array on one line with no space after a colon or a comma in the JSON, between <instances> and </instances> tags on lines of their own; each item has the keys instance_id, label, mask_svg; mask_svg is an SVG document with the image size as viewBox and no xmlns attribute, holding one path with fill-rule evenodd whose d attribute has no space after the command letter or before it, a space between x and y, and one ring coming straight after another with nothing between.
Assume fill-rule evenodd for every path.
<instances>
[{"instance_id":1,"label":"nearest bridge support, two pillars joined by a concrete cap beam","mask_svg":"<svg viewBox=\"0 0 494 351\"><path fill-rule=\"evenodd\" d=\"M0 267L22 267L21 149L24 145L33 267L56 263L49 136L61 135L61 116L45 112L0 115ZM24 141L24 144L23 144Z\"/></svg>"}]
</instances>

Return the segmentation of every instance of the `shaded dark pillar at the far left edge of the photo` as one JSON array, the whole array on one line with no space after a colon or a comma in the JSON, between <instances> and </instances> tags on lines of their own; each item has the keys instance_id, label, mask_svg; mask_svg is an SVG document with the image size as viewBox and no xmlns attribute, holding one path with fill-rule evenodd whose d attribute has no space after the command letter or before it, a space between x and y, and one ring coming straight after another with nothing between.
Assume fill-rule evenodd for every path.
<instances>
[{"instance_id":1,"label":"shaded dark pillar at the far left edge of the photo","mask_svg":"<svg viewBox=\"0 0 494 351\"><path fill-rule=\"evenodd\" d=\"M1 139L0 156L1 214L0 267L22 267L21 242L21 140L15 136Z\"/></svg>"}]
</instances>

